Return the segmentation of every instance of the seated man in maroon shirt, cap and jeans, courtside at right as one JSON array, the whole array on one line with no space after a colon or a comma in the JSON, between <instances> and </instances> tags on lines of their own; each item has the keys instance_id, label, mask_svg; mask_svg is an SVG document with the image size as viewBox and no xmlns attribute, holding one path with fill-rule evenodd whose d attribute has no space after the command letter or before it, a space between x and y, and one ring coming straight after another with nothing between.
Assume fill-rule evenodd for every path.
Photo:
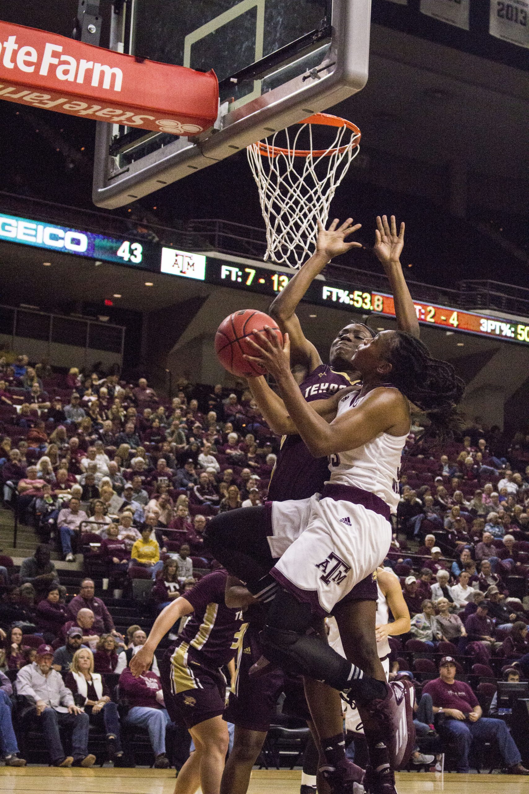
<instances>
[{"instance_id":1,"label":"seated man in maroon shirt, cap and jeans, courtside at right","mask_svg":"<svg viewBox=\"0 0 529 794\"><path fill-rule=\"evenodd\" d=\"M495 742L508 773L528 775L529 770L522 765L522 757L506 723L501 719L483 717L477 697L463 681L455 680L456 667L451 656L441 659L439 678L427 681L423 695L430 695L435 715L443 715L442 721L436 719L439 734L444 741L457 744L457 770L469 772L469 752L474 739L477 742Z\"/></svg>"}]
</instances>

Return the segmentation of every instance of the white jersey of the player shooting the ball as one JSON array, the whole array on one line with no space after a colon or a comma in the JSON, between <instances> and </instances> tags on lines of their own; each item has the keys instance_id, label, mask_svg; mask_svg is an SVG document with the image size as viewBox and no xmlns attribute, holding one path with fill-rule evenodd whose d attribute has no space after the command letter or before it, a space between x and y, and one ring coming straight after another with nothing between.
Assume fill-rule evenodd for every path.
<instances>
[{"instance_id":1,"label":"white jersey of the player shooting the ball","mask_svg":"<svg viewBox=\"0 0 529 794\"><path fill-rule=\"evenodd\" d=\"M367 395L366 395L367 396ZM345 395L338 403L337 416L357 407L366 397ZM330 482L353 485L362 491L371 491L397 513L399 503L399 476L401 455L408 434L390 436L380 433L367 444L329 456Z\"/></svg>"}]
</instances>

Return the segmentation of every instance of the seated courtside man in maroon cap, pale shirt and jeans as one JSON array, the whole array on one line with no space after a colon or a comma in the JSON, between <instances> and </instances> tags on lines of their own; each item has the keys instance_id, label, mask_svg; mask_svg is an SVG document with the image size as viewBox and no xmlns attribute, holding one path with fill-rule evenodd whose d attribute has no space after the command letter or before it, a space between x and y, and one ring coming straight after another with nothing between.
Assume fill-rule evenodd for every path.
<instances>
[{"instance_id":1,"label":"seated courtside man in maroon cap, pale shirt and jeans","mask_svg":"<svg viewBox=\"0 0 529 794\"><path fill-rule=\"evenodd\" d=\"M18 671L17 695L25 696L30 704L25 717L30 716L43 731L52 765L94 766L95 756L88 753L88 715L75 705L71 690L52 663L52 646L41 645L36 650L36 661ZM59 726L71 733L71 756L64 753Z\"/></svg>"}]
</instances>

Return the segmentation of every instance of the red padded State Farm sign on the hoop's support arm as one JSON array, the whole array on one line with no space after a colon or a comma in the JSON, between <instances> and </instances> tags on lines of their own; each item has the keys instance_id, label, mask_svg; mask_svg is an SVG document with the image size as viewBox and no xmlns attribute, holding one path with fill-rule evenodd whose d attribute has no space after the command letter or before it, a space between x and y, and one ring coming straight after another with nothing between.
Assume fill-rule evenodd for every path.
<instances>
[{"instance_id":1,"label":"red padded State Farm sign on the hoop's support arm","mask_svg":"<svg viewBox=\"0 0 529 794\"><path fill-rule=\"evenodd\" d=\"M207 74L0 21L0 98L112 124L197 135L217 119Z\"/></svg>"}]
</instances>

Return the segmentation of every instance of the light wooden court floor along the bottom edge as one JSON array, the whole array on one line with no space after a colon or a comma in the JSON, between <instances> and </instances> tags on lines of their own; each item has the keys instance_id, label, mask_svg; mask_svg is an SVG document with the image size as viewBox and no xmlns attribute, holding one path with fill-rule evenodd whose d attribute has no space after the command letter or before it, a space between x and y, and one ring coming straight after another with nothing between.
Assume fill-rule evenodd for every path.
<instances>
[{"instance_id":1,"label":"light wooden court floor along the bottom edge","mask_svg":"<svg viewBox=\"0 0 529 794\"><path fill-rule=\"evenodd\" d=\"M299 794L299 772L259 770L249 794ZM0 768L0 792L17 794L173 794L174 769L53 769L28 766ZM399 794L528 794L527 777L404 773L397 776Z\"/></svg>"}]
</instances>

